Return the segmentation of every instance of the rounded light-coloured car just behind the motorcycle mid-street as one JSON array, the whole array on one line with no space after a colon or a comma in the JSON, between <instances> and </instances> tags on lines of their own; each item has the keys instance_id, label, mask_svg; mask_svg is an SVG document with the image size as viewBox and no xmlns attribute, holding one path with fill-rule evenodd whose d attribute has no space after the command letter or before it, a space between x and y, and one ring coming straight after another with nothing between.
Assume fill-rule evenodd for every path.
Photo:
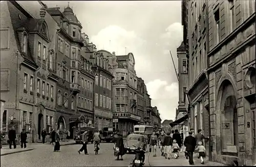
<instances>
[{"instance_id":1,"label":"rounded light-coloured car just behind the motorcycle mid-street","mask_svg":"<svg viewBox=\"0 0 256 167\"><path fill-rule=\"evenodd\" d=\"M134 146L139 147L143 141L144 141L144 136L142 134L129 134L126 137L126 141L124 142L124 148L126 152L129 152L129 153L134 152L136 150Z\"/></svg>"}]
</instances>

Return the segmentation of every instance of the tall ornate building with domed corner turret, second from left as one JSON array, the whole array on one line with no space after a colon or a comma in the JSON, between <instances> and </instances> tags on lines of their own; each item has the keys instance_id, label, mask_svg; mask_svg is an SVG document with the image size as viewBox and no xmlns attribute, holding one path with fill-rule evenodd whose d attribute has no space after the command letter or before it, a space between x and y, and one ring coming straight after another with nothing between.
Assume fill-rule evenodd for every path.
<instances>
[{"instance_id":1,"label":"tall ornate building with domed corner turret, second from left","mask_svg":"<svg viewBox=\"0 0 256 167\"><path fill-rule=\"evenodd\" d=\"M69 129L73 135L75 130L93 124L92 63L83 49L87 42L81 35L81 23L69 5L63 12L59 8L48 8L47 12L59 26L56 32L57 129Z\"/></svg>"}]
</instances>

